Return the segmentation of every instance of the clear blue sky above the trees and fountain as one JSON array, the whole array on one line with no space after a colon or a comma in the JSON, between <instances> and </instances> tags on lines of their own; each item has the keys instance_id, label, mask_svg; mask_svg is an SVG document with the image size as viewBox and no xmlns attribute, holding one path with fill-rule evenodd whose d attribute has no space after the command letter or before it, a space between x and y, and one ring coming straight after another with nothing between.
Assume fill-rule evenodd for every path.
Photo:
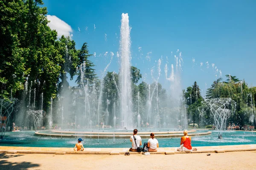
<instances>
[{"instance_id":1,"label":"clear blue sky above the trees and fountain","mask_svg":"<svg viewBox=\"0 0 256 170\"><path fill-rule=\"evenodd\" d=\"M70 26L66 31L73 34L76 48L87 42L90 53L96 53L91 60L99 77L111 61L111 52L114 56L107 71L118 72L121 14L128 13L131 63L146 82L153 82L150 70L162 59L160 83L168 89L164 66L175 65L174 55L181 51L182 88L197 81L204 94L215 79L226 79L226 74L256 86L255 0L44 0L44 6L49 15ZM61 29L65 26L57 31ZM75 84L71 81L70 85Z\"/></svg>"}]
</instances>

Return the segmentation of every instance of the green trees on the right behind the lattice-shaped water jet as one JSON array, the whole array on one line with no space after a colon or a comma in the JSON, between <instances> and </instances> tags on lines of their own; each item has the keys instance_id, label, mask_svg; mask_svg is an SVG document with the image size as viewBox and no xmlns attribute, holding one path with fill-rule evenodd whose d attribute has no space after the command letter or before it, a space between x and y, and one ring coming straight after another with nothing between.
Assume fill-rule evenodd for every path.
<instances>
[{"instance_id":1,"label":"green trees on the right behind the lattice-shaped water jet","mask_svg":"<svg viewBox=\"0 0 256 170\"><path fill-rule=\"evenodd\" d=\"M234 108L235 111L227 119L227 122L239 126L255 125L256 87L249 88L244 80L239 80L236 76L226 75L226 77L226 81L219 78L212 83L211 87L207 89L206 99L232 99L236 103L236 108ZM201 126L214 123L213 117L207 109L204 110L204 113L200 113L200 108L204 105L204 99L196 82L192 87L188 87L186 91L183 90L183 96L186 105L189 106L189 123L196 123Z\"/></svg>"}]
</instances>

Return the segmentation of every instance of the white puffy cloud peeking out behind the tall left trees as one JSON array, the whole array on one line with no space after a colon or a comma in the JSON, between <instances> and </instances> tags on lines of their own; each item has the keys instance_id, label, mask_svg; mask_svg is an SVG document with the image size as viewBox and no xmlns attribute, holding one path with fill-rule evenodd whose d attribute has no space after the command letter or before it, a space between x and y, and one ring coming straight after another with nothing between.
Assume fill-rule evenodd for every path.
<instances>
[{"instance_id":1,"label":"white puffy cloud peeking out behind the tall left trees","mask_svg":"<svg viewBox=\"0 0 256 170\"><path fill-rule=\"evenodd\" d=\"M51 29L55 29L58 32L58 38L60 38L62 35L64 35L65 37L70 36L73 32L70 25L68 25L55 15L47 15L47 19L50 21L47 25Z\"/></svg>"}]
</instances>

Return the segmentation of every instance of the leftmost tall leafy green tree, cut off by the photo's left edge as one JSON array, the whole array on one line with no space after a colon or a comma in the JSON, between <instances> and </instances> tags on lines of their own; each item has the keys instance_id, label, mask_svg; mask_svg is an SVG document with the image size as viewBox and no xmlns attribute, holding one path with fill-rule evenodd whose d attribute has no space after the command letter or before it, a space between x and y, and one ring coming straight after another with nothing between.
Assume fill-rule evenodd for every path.
<instances>
[{"instance_id":1,"label":"leftmost tall leafy green tree, cut off by the photo's left edge","mask_svg":"<svg viewBox=\"0 0 256 170\"><path fill-rule=\"evenodd\" d=\"M27 49L20 43L25 39L28 14L27 5L23 0L0 0L0 97L8 98L11 91L23 89L26 71Z\"/></svg>"}]
</instances>

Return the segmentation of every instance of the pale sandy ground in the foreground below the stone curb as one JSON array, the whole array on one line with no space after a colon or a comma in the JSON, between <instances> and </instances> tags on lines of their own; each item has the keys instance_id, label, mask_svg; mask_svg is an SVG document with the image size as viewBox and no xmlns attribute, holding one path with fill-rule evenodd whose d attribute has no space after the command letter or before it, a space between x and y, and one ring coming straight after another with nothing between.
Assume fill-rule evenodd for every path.
<instances>
[{"instance_id":1,"label":"pale sandy ground in the foreground below the stone curb","mask_svg":"<svg viewBox=\"0 0 256 170\"><path fill-rule=\"evenodd\" d=\"M0 170L253 170L256 151L151 155L0 153Z\"/></svg>"}]
</instances>

